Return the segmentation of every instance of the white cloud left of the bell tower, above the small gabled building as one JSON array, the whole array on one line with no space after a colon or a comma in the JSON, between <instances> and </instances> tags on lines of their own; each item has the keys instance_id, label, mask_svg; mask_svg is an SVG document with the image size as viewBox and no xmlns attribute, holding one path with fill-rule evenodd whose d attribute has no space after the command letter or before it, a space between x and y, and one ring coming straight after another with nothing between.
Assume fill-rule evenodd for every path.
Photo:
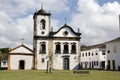
<instances>
[{"instance_id":1,"label":"white cloud left of the bell tower, above the small gabled building","mask_svg":"<svg viewBox=\"0 0 120 80\"><path fill-rule=\"evenodd\" d=\"M25 38L26 44L32 44L33 16L13 21L5 12L0 12L0 47L15 46Z\"/></svg>"}]
</instances>

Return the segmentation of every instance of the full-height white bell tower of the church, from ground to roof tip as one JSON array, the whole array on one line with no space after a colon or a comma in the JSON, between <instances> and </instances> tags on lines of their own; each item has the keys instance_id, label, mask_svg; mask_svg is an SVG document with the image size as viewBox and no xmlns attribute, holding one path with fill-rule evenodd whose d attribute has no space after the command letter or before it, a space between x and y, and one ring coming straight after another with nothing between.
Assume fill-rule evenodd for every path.
<instances>
[{"instance_id":1,"label":"full-height white bell tower of the church, from ground to roof tip","mask_svg":"<svg viewBox=\"0 0 120 80\"><path fill-rule=\"evenodd\" d=\"M33 50L34 50L34 68L46 69L47 59L49 55L49 34L51 30L50 13L47 13L43 6L36 11L33 16L34 21L34 37L33 37ZM42 65L42 66L41 66Z\"/></svg>"}]
</instances>

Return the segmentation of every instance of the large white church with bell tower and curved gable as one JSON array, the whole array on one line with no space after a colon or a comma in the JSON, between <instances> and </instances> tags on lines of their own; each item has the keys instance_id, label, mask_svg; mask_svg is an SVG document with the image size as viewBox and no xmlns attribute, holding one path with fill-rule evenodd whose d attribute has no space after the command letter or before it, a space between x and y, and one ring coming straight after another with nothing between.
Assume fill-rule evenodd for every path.
<instances>
[{"instance_id":1,"label":"large white church with bell tower and curved gable","mask_svg":"<svg viewBox=\"0 0 120 80\"><path fill-rule=\"evenodd\" d=\"M65 24L53 32L51 14L43 8L34 13L35 69L72 70L79 67L80 35Z\"/></svg>"}]
</instances>

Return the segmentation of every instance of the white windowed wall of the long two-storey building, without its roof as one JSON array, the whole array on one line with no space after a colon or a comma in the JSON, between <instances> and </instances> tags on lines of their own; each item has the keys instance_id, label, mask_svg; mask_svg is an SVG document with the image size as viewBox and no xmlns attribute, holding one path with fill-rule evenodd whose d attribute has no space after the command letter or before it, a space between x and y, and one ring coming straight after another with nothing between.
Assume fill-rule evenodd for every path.
<instances>
[{"instance_id":1,"label":"white windowed wall of the long two-storey building, without its roof","mask_svg":"<svg viewBox=\"0 0 120 80\"><path fill-rule=\"evenodd\" d=\"M101 68L101 62L105 61L105 69L106 69L106 55L102 54L102 50L104 49L100 49L100 48L93 48L90 50L85 50L85 51L81 51L81 61L82 67L85 68L85 62L87 62L87 67L86 68L97 68L100 69ZM87 53L87 56L86 56ZM90 56L89 56L90 53ZM83 56L84 54L84 56ZM92 67L92 62L95 62L95 65ZM98 65L96 65L98 62ZM91 63L91 67L90 67L90 63Z\"/></svg>"}]
</instances>

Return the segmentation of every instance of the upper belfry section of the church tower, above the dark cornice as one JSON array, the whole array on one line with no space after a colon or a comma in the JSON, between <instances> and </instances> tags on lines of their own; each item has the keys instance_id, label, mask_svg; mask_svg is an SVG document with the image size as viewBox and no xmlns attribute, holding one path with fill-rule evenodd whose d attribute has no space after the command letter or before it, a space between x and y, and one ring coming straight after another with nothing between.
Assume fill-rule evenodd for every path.
<instances>
[{"instance_id":1,"label":"upper belfry section of the church tower, above the dark cornice","mask_svg":"<svg viewBox=\"0 0 120 80\"><path fill-rule=\"evenodd\" d=\"M49 36L50 32L50 13L47 13L43 6L34 13L34 36Z\"/></svg>"}]
</instances>

